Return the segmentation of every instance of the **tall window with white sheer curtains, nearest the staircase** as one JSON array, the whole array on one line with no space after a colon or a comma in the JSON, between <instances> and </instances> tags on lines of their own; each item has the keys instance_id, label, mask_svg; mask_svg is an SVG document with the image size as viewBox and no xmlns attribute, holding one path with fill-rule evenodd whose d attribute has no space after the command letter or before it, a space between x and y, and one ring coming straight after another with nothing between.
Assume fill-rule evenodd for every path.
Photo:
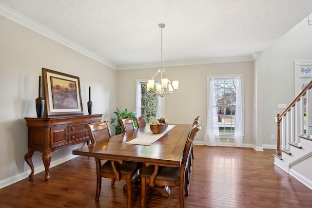
<instances>
[{"instance_id":1,"label":"tall window with white sheer curtains, nearest the staircase","mask_svg":"<svg viewBox=\"0 0 312 208\"><path fill-rule=\"evenodd\" d=\"M218 127L220 138L235 139L235 137L239 137L238 140L241 143L243 137L243 75L208 76L207 86L208 98L214 100L214 102L208 102L207 109L214 109L213 112L208 110L211 112L208 117L217 116L217 118L211 119L214 122L209 122L209 125ZM212 131L213 127L207 126L208 128L211 131L210 135L207 134L207 139L213 137L211 132L215 132L215 130ZM241 144L237 145L237 147L240 146Z\"/></svg>"}]
</instances>

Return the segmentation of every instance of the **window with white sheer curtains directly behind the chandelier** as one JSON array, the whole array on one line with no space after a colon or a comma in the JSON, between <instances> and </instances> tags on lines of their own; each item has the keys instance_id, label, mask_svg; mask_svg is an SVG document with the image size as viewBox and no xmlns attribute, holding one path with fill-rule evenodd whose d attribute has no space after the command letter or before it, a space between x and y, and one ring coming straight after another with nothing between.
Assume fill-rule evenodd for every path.
<instances>
[{"instance_id":1,"label":"window with white sheer curtains directly behind the chandelier","mask_svg":"<svg viewBox=\"0 0 312 208\"><path fill-rule=\"evenodd\" d=\"M147 80L137 81L136 112L137 116L144 115L147 123L153 123L153 120L162 115L162 99L160 96L149 93L146 89Z\"/></svg>"}]
</instances>

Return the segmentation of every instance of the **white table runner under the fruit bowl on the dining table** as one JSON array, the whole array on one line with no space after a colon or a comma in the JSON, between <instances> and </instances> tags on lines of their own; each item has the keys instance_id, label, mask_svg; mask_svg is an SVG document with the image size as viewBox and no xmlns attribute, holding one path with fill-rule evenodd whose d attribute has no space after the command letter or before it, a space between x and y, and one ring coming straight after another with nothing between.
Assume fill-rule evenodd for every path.
<instances>
[{"instance_id":1,"label":"white table runner under the fruit bowl on the dining table","mask_svg":"<svg viewBox=\"0 0 312 208\"><path fill-rule=\"evenodd\" d=\"M143 135L140 135L137 138L135 138L131 141L125 142L125 143L126 144L134 144L134 145L150 146L151 144L156 142L160 137L162 137L164 134L169 132L174 127L175 127L175 125L168 125L167 129L164 132L158 133L158 134L154 134L153 132L149 131L149 132L146 132Z\"/></svg>"}]
</instances>

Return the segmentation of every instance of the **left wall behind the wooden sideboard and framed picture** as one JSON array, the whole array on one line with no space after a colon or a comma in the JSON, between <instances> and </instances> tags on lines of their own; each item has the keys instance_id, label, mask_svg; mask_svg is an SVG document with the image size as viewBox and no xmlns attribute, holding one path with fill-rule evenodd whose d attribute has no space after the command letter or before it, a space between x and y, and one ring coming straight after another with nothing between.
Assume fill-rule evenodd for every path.
<instances>
[{"instance_id":1,"label":"left wall behind the wooden sideboard and framed picture","mask_svg":"<svg viewBox=\"0 0 312 208\"><path fill-rule=\"evenodd\" d=\"M28 151L24 117L37 117L42 68L79 77L84 114L88 114L89 86L93 114L104 113L103 120L108 120L116 107L116 70L0 16L0 187L30 173L24 161ZM71 156L81 145L54 152L51 164ZM35 152L33 162L35 173L43 170L41 153Z\"/></svg>"}]
</instances>

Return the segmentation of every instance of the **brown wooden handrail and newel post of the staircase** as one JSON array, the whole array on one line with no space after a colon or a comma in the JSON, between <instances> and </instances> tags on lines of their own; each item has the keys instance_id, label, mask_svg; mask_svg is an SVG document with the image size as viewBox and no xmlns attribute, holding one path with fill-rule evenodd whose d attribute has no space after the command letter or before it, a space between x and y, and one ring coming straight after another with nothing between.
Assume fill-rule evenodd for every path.
<instances>
[{"instance_id":1,"label":"brown wooden handrail and newel post of the staircase","mask_svg":"<svg viewBox=\"0 0 312 208\"><path fill-rule=\"evenodd\" d=\"M289 104L289 106L283 111L283 113L281 114L277 114L276 116L276 123L277 123L277 144L276 144L276 151L275 153L277 155L282 155L282 151L280 150L280 123L282 121L282 117L286 115L287 112L289 112L291 110L291 108L293 106L296 105L296 102L298 102L301 97L303 95L306 95L307 91L310 90L312 88L312 80L309 82L309 84L307 84L307 86L305 88L303 88L303 90L299 93L299 95L296 96L296 98L294 98L294 100L292 100L291 104Z\"/></svg>"}]
</instances>

